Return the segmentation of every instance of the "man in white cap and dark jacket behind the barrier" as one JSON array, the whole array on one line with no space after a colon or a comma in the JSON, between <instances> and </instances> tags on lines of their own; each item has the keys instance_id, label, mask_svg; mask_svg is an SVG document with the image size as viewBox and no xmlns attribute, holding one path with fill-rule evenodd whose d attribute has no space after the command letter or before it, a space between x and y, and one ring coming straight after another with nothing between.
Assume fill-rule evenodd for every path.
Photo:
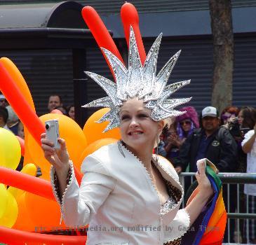
<instances>
[{"instance_id":1,"label":"man in white cap and dark jacket behind the barrier","mask_svg":"<svg viewBox=\"0 0 256 245\"><path fill-rule=\"evenodd\" d=\"M184 172L189 165L189 172L196 172L196 162L201 158L208 158L219 172L236 172L236 141L224 127L220 127L220 118L217 109L207 106L201 113L202 127L194 130L180 147L180 154L175 158L174 164L177 172ZM189 180L185 179L185 189L189 186ZM230 190L234 195L234 190ZM223 198L228 207L227 186L223 186ZM235 211L236 207L231 206L229 211ZM226 230L227 231L227 230ZM234 241L234 223L230 226L231 241ZM227 241L227 232L224 241Z\"/></svg>"}]
</instances>

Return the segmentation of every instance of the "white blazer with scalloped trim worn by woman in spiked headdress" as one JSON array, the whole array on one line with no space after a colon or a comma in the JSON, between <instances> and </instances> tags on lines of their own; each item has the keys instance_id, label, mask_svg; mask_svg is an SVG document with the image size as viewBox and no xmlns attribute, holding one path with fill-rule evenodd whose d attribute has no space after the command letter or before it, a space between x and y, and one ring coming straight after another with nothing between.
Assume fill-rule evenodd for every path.
<instances>
[{"instance_id":1,"label":"white blazer with scalloped trim worn by woman in spiked headdress","mask_svg":"<svg viewBox=\"0 0 256 245\"><path fill-rule=\"evenodd\" d=\"M71 162L72 175L62 202L52 168L53 193L65 224L77 228L89 223L87 245L163 245L182 237L190 222L187 211L179 210L184 195L182 186L170 162L159 158L155 165L163 179L181 194L177 204L164 213L147 169L121 144L103 146L83 161L80 188Z\"/></svg>"}]
</instances>

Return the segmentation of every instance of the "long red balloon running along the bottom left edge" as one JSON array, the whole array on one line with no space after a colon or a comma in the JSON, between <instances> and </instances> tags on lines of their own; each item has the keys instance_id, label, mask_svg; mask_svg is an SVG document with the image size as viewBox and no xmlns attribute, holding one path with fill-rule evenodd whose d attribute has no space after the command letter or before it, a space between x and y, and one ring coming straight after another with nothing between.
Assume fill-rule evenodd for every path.
<instances>
[{"instance_id":1,"label":"long red balloon running along the bottom left edge","mask_svg":"<svg viewBox=\"0 0 256 245\"><path fill-rule=\"evenodd\" d=\"M86 236L46 235L0 226L0 242L11 245L84 245L86 238Z\"/></svg>"}]
</instances>

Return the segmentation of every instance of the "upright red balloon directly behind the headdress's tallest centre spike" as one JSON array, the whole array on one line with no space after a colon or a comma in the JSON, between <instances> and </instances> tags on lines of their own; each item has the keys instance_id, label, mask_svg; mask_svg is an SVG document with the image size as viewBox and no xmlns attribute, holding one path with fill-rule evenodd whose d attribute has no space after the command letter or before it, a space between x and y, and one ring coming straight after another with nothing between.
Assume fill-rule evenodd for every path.
<instances>
[{"instance_id":1,"label":"upright red balloon directly behind the headdress's tallest centre spike","mask_svg":"<svg viewBox=\"0 0 256 245\"><path fill-rule=\"evenodd\" d=\"M133 4L131 3L123 4L121 8L121 19L123 22L123 30L124 30L124 34L126 35L126 42L128 46L129 46L130 26L133 27L133 31L134 31L136 42L137 42L137 48L140 54L140 60L143 65L146 59L146 52L142 42L142 36L140 34L139 15L137 14L137 10L135 6L133 6Z\"/></svg>"}]
</instances>

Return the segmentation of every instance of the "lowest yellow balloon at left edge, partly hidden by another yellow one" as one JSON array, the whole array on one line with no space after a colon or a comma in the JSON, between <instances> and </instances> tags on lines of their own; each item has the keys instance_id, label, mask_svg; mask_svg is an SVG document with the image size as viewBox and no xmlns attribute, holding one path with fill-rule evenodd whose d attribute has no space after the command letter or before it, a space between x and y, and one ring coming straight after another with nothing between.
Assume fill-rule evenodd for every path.
<instances>
[{"instance_id":1,"label":"lowest yellow balloon at left edge, partly hidden by another yellow one","mask_svg":"<svg viewBox=\"0 0 256 245\"><path fill-rule=\"evenodd\" d=\"M7 228L12 228L18 217L18 204L11 193L7 192L7 195L6 211L0 218L0 225Z\"/></svg>"}]
</instances>

